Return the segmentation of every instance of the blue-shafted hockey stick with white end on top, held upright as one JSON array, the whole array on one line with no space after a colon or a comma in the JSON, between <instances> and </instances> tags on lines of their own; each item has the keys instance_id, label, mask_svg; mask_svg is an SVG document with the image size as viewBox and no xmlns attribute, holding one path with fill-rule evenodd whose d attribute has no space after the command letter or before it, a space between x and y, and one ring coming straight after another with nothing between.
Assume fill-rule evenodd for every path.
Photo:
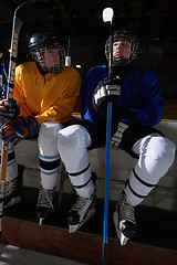
<instances>
[{"instance_id":1,"label":"blue-shafted hockey stick with white end on top, held upright","mask_svg":"<svg viewBox=\"0 0 177 265\"><path fill-rule=\"evenodd\" d=\"M113 9L106 8L103 10L103 21L111 22L111 49L108 60L108 77L113 72ZM104 234L103 234L103 257L102 265L107 264L107 231L108 231L108 193L110 193L110 157L111 157L111 134L112 134L112 103L107 104L107 120L106 120L106 166L105 166L105 194L104 194Z\"/></svg>"}]
</instances>

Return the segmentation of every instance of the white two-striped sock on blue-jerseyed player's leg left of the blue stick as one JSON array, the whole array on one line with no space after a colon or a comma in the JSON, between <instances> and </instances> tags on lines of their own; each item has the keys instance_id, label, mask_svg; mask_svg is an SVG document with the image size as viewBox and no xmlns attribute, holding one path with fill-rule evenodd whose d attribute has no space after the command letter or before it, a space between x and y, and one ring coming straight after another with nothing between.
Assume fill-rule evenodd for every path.
<instances>
[{"instance_id":1,"label":"white two-striped sock on blue-jerseyed player's leg left of the blue stick","mask_svg":"<svg viewBox=\"0 0 177 265\"><path fill-rule=\"evenodd\" d=\"M76 193L88 198L94 191L87 147L91 137L81 125L69 126L59 132L58 148Z\"/></svg>"}]
</instances>

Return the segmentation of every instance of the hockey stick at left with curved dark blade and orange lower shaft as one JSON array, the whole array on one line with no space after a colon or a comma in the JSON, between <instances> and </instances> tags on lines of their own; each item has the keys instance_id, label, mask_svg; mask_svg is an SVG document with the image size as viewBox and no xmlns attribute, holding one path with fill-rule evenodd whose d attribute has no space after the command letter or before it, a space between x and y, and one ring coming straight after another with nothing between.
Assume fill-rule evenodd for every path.
<instances>
[{"instance_id":1,"label":"hockey stick at left with curved dark blade and orange lower shaft","mask_svg":"<svg viewBox=\"0 0 177 265\"><path fill-rule=\"evenodd\" d=\"M19 44L20 29L24 20L39 13L39 10L41 12L48 9L49 9L48 0L31 0L20 4L14 11L12 36L11 36L11 49L10 49L8 89L7 89L8 99L13 98L13 85L14 85L14 74L15 74L15 66L17 66L17 59L18 59L18 44ZM0 184L0 232L1 232L1 223L2 223L2 214L3 214L7 161L8 161L8 144L2 141L1 184Z\"/></svg>"}]
</instances>

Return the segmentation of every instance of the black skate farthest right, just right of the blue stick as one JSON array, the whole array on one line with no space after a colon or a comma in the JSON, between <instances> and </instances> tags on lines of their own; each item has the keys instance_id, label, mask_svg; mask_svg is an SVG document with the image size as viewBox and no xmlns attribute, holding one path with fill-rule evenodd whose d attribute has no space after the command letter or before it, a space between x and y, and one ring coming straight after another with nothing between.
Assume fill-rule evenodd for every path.
<instances>
[{"instance_id":1,"label":"black skate farthest right, just right of the blue stick","mask_svg":"<svg viewBox=\"0 0 177 265\"><path fill-rule=\"evenodd\" d=\"M116 204L116 211L113 214L114 225L119 239L121 245L126 245L127 240L136 235L136 222L134 216L134 206L127 200L123 191Z\"/></svg>"}]
</instances>

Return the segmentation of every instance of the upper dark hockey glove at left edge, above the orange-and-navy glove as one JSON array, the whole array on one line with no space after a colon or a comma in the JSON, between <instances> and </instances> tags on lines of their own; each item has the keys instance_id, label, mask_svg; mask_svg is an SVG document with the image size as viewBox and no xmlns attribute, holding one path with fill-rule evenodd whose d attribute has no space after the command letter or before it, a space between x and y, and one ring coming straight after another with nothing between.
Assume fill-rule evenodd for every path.
<instances>
[{"instance_id":1,"label":"upper dark hockey glove at left edge, above the orange-and-navy glove","mask_svg":"<svg viewBox=\"0 0 177 265\"><path fill-rule=\"evenodd\" d=\"M0 100L0 123L8 123L20 114L20 107L15 99Z\"/></svg>"}]
</instances>

